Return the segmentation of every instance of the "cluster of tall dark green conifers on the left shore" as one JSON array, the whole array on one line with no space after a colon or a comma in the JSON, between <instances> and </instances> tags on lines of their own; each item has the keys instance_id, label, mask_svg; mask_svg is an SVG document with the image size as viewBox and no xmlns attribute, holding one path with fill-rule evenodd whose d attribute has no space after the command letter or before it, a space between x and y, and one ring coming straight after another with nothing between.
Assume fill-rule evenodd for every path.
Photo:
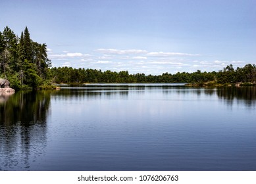
<instances>
[{"instance_id":1,"label":"cluster of tall dark green conifers on the left shore","mask_svg":"<svg viewBox=\"0 0 256 184\"><path fill-rule=\"evenodd\" d=\"M27 27L20 37L8 26L0 32L0 78L8 79L11 87L26 89L49 84L50 66L45 43L30 39Z\"/></svg>"}]
</instances>

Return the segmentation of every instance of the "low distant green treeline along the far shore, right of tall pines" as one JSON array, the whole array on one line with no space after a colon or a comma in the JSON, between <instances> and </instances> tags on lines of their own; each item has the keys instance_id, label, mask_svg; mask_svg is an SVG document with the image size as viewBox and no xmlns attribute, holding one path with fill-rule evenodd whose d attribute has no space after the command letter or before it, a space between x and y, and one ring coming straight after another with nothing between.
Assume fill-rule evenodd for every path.
<instances>
[{"instance_id":1,"label":"low distant green treeline along the far shore, right of tall pines","mask_svg":"<svg viewBox=\"0 0 256 184\"><path fill-rule=\"evenodd\" d=\"M128 71L102 72L95 69L59 67L51 68L55 83L255 83L256 66L246 64L242 68L233 68L232 64L218 72L178 72L176 74L145 75L129 74Z\"/></svg>"}]
</instances>

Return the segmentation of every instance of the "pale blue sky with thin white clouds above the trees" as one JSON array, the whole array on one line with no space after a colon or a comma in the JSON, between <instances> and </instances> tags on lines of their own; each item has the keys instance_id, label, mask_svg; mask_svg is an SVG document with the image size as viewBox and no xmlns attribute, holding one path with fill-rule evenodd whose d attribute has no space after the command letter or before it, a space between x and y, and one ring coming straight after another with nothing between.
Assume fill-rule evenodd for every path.
<instances>
[{"instance_id":1,"label":"pale blue sky with thin white clouds above the trees","mask_svg":"<svg viewBox=\"0 0 256 184\"><path fill-rule=\"evenodd\" d=\"M255 0L0 1L0 30L46 43L53 66L130 74L256 64Z\"/></svg>"}]
</instances>

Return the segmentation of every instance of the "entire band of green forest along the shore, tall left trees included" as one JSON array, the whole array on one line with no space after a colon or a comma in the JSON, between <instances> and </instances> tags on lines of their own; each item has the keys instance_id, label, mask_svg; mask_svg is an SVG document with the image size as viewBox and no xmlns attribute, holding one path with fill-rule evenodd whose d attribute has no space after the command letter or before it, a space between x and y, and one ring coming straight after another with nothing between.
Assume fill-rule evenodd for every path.
<instances>
[{"instance_id":1,"label":"entire band of green forest along the shore, tall left trees included","mask_svg":"<svg viewBox=\"0 0 256 184\"><path fill-rule=\"evenodd\" d=\"M176 74L129 74L96 69L51 67L47 45L30 39L26 27L20 37L8 26L0 32L0 78L19 89L51 89L56 83L190 83L192 85L256 85L256 66L232 64L218 72L178 72Z\"/></svg>"}]
</instances>

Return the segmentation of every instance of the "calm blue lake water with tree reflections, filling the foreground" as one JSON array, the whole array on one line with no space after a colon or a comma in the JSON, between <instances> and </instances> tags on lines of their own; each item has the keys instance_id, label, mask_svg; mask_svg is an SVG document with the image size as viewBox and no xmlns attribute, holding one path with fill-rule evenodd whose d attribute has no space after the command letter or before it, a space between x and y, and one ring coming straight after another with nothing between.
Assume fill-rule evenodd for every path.
<instances>
[{"instance_id":1,"label":"calm blue lake water with tree reflections, filling the foreground","mask_svg":"<svg viewBox=\"0 0 256 184\"><path fill-rule=\"evenodd\" d=\"M0 95L0 170L256 170L256 87Z\"/></svg>"}]
</instances>

